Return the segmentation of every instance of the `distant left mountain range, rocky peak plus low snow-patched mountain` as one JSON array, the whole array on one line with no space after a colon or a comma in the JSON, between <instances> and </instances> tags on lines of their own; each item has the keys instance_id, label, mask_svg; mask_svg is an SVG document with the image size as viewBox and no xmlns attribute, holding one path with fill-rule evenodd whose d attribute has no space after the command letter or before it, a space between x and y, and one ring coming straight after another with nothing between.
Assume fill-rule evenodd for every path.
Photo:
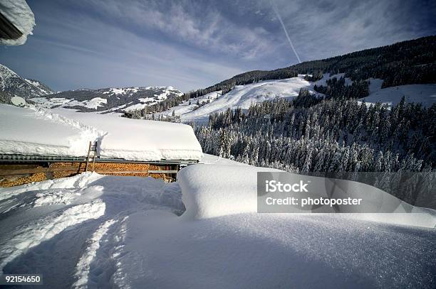
<instances>
[{"instance_id":1,"label":"distant left mountain range, rocky peak plus low snow-patched mountain","mask_svg":"<svg viewBox=\"0 0 436 289\"><path fill-rule=\"evenodd\" d=\"M23 97L46 108L67 107L79 111L130 111L144 109L183 93L174 87L106 87L54 92L39 80L21 77L0 64L0 102Z\"/></svg>"}]
</instances>

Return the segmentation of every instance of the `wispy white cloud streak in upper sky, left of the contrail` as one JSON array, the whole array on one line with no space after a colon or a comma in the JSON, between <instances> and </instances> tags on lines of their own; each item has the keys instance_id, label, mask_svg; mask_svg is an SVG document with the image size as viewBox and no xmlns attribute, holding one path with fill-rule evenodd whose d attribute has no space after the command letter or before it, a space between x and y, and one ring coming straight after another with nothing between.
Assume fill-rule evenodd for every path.
<instances>
[{"instance_id":1,"label":"wispy white cloud streak in upper sky, left of the contrail","mask_svg":"<svg viewBox=\"0 0 436 289\"><path fill-rule=\"evenodd\" d=\"M195 1L86 1L107 18L143 31L157 31L187 45L252 59L271 53L274 37L261 26L242 26L212 7Z\"/></svg>"}]
</instances>

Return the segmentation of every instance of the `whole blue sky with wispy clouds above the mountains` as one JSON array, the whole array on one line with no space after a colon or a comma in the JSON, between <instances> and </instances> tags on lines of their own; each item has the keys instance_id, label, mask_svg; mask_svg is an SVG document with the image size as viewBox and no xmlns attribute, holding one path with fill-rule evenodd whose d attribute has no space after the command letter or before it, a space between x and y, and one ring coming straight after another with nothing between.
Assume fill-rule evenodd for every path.
<instances>
[{"instance_id":1,"label":"whole blue sky with wispy clouds above the mountains","mask_svg":"<svg viewBox=\"0 0 436 289\"><path fill-rule=\"evenodd\" d=\"M207 87L247 70L436 34L435 1L29 1L33 36L0 63L56 90ZM276 10L274 10L274 5Z\"/></svg>"}]
</instances>

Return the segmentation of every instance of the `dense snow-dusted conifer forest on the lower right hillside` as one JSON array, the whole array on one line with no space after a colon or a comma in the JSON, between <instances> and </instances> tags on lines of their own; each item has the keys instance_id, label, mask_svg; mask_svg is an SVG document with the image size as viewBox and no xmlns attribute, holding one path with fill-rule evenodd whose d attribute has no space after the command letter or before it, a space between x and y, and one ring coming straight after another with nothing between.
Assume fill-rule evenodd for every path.
<instances>
[{"instance_id":1,"label":"dense snow-dusted conifer forest on the lower right hillside","mask_svg":"<svg viewBox=\"0 0 436 289\"><path fill-rule=\"evenodd\" d=\"M297 173L431 173L435 131L436 104L404 98L393 109L345 98L308 108L277 99L211 114L208 126L195 128L204 153ZM390 193L414 203L410 192Z\"/></svg>"}]
</instances>

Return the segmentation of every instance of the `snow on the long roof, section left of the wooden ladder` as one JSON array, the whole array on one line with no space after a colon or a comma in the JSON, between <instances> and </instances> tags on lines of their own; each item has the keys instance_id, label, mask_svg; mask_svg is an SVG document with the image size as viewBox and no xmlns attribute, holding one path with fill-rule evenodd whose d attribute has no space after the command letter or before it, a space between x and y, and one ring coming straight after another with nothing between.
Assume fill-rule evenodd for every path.
<instances>
[{"instance_id":1,"label":"snow on the long roof, section left of the wooden ladder","mask_svg":"<svg viewBox=\"0 0 436 289\"><path fill-rule=\"evenodd\" d=\"M45 109L0 105L0 153L85 156L102 134Z\"/></svg>"}]
</instances>

